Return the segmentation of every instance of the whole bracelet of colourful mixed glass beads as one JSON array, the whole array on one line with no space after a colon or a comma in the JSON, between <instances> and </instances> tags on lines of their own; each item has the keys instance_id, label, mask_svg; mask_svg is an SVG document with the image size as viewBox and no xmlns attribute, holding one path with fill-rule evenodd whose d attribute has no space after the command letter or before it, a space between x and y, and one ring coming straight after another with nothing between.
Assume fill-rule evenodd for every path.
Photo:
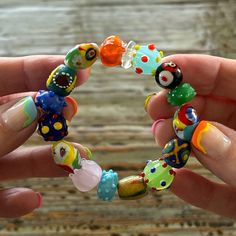
<instances>
[{"instance_id":1,"label":"whole bracelet of colourful mixed glass beads","mask_svg":"<svg viewBox=\"0 0 236 236\"><path fill-rule=\"evenodd\" d=\"M137 74L154 76L160 87L169 90L167 101L179 106L173 118L177 138L165 145L161 158L148 160L143 172L121 180L113 170L102 171L93 160L82 158L72 143L63 140L68 134L68 122L62 110L67 106L66 96L76 85L76 72L90 67L99 56L105 66L133 67ZM116 190L121 199L138 199L148 194L148 188L153 191L169 188L175 176L172 168L186 164L191 153L190 140L199 123L196 111L187 102L196 92L190 84L181 84L181 69L174 62L162 63L162 58L163 53L154 44L137 45L133 41L126 44L118 36L106 38L100 47L94 43L80 44L67 53L64 64L52 71L46 83L48 91L40 90L36 95L36 106L43 114L38 133L45 141L53 141L55 164L69 172L79 191L87 192L98 185L97 195L101 200L111 201Z\"/></svg>"}]
</instances>

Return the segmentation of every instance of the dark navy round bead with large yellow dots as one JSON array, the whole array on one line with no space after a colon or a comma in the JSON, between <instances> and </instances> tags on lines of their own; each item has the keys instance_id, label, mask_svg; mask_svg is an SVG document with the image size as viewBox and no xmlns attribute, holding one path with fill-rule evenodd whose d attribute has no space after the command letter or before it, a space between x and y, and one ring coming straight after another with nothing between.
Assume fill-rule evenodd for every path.
<instances>
[{"instance_id":1,"label":"dark navy round bead with large yellow dots","mask_svg":"<svg viewBox=\"0 0 236 236\"><path fill-rule=\"evenodd\" d=\"M45 141L59 141L68 134L65 118L58 114L44 114L38 121L38 133Z\"/></svg>"}]
</instances>

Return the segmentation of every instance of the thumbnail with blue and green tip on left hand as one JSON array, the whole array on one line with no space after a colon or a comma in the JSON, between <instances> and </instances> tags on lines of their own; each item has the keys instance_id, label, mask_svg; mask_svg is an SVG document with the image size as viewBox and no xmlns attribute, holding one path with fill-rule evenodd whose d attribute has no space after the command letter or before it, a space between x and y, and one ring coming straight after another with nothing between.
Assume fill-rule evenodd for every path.
<instances>
[{"instance_id":1,"label":"thumbnail with blue and green tip on left hand","mask_svg":"<svg viewBox=\"0 0 236 236\"><path fill-rule=\"evenodd\" d=\"M37 118L37 109L32 97L28 96L16 103L2 105L2 123L6 127L20 131Z\"/></svg>"}]
</instances>

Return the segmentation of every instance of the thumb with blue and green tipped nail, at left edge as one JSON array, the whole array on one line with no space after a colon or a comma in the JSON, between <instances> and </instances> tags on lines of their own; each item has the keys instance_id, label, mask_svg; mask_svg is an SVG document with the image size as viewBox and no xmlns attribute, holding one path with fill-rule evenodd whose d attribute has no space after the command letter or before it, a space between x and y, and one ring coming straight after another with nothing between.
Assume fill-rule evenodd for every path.
<instances>
[{"instance_id":1,"label":"thumb with blue and green tipped nail, at left edge","mask_svg":"<svg viewBox=\"0 0 236 236\"><path fill-rule=\"evenodd\" d=\"M32 135L37 127L37 116L31 96L0 106L0 157L19 147Z\"/></svg>"}]
</instances>

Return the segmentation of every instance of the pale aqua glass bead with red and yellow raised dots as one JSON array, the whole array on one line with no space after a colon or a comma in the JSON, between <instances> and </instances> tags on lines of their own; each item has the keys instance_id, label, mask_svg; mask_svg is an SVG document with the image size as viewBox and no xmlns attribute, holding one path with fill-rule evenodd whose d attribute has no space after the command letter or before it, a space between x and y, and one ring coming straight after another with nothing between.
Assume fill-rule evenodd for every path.
<instances>
[{"instance_id":1,"label":"pale aqua glass bead with red and yellow raised dots","mask_svg":"<svg viewBox=\"0 0 236 236\"><path fill-rule=\"evenodd\" d=\"M135 45L132 66L137 74L155 75L156 68L161 64L163 53L154 44Z\"/></svg>"}]
</instances>

